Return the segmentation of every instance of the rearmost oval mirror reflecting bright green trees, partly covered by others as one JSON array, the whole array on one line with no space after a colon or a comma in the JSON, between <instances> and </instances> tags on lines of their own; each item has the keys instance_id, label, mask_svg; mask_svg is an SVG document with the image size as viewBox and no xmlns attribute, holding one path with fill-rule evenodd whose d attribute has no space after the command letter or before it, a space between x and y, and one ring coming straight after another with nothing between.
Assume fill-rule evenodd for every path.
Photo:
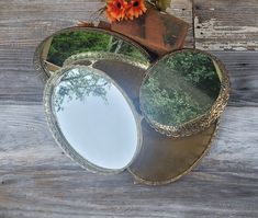
<instances>
[{"instance_id":1,"label":"rearmost oval mirror reflecting bright green trees, partly covered by others","mask_svg":"<svg viewBox=\"0 0 258 218\"><path fill-rule=\"evenodd\" d=\"M149 62L150 56L139 45L117 33L98 27L70 27L44 39L36 48L34 66L46 81L72 55L102 51L124 55L137 61Z\"/></svg>"}]
</instances>

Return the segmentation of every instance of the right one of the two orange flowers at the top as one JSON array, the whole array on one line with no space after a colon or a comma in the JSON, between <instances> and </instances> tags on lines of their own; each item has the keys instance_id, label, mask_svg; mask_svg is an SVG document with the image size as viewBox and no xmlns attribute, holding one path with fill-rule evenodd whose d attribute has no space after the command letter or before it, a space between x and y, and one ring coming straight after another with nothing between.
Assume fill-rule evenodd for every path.
<instances>
[{"instance_id":1,"label":"right one of the two orange flowers at the top","mask_svg":"<svg viewBox=\"0 0 258 218\"><path fill-rule=\"evenodd\" d=\"M134 18L138 18L139 15L144 14L146 12L146 7L144 3L144 0L131 0L128 2L128 7L126 10L126 18L133 20Z\"/></svg>"}]
</instances>

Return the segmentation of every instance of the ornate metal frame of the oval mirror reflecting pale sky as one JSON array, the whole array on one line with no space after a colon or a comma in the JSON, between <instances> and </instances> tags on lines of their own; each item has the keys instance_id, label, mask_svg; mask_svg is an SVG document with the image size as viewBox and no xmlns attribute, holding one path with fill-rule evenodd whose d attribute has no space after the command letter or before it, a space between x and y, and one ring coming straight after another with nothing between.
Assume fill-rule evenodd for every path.
<instances>
[{"instance_id":1,"label":"ornate metal frame of the oval mirror reflecting pale sky","mask_svg":"<svg viewBox=\"0 0 258 218\"><path fill-rule=\"evenodd\" d=\"M123 96L125 97L130 108L133 112L133 116L136 123L136 127L137 127L137 148L134 152L134 157L132 158L132 160L128 162L127 165L125 165L122 169L104 169L101 167L98 167L91 162L89 162L87 159L85 159L83 157L81 157L74 148L66 140L65 136L63 135L58 122L56 119L56 116L54 115L54 111L53 111L53 106L52 106L52 102L53 102L53 91L55 89L55 85L58 83L59 79L61 78L61 76L67 72L69 69L72 68L86 68L86 69L91 69L94 72L98 72L100 74L102 74L104 78L106 78L109 81L111 81L119 90L120 92L123 94ZM135 160L135 158L138 156L141 148L142 148L142 141L143 141L143 135L142 135L142 125L141 125L141 116L138 115L138 113L136 112L132 101L130 100L130 97L126 95L126 93L124 92L124 90L113 80L111 79L109 76L106 76L104 72L102 72L101 70L94 69L94 68L89 68L86 66L67 66L65 68L61 68L60 70L56 71L56 73L51 77L47 80L47 83L45 85L44 89L44 95L43 95L43 104L44 104L44 111L45 111L45 117L46 117L46 122L49 126L51 133L55 139L55 141L57 142L57 145L64 150L64 152L76 163L78 163L81 168L92 172L92 173L98 173L98 174L117 174L123 172L124 170L126 170Z\"/></svg>"}]
</instances>

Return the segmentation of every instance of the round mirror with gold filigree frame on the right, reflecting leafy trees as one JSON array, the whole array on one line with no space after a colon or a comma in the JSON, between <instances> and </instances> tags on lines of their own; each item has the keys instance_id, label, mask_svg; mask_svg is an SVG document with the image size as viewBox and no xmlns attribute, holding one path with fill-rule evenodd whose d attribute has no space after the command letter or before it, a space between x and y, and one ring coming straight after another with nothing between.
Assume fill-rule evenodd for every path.
<instances>
[{"instance_id":1,"label":"round mirror with gold filigree frame on the right, reflecting leafy trees","mask_svg":"<svg viewBox=\"0 0 258 218\"><path fill-rule=\"evenodd\" d=\"M197 49L159 59L141 87L141 108L167 136L190 136L214 123L227 103L229 80L222 62Z\"/></svg>"}]
</instances>

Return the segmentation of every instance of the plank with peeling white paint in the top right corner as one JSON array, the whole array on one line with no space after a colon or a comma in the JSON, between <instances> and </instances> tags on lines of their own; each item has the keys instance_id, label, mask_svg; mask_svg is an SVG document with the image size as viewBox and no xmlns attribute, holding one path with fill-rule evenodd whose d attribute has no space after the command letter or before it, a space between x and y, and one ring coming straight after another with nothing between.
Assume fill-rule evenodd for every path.
<instances>
[{"instance_id":1,"label":"plank with peeling white paint in the top right corner","mask_svg":"<svg viewBox=\"0 0 258 218\"><path fill-rule=\"evenodd\" d=\"M258 50L257 0L193 0L195 46L206 50Z\"/></svg>"}]
</instances>

